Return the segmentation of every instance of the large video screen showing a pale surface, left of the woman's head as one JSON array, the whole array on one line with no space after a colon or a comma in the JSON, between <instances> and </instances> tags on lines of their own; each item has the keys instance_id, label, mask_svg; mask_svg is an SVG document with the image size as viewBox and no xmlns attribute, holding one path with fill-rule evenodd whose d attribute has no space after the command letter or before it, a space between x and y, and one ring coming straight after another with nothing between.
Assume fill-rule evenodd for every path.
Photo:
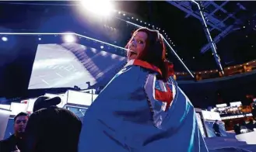
<instances>
[{"instance_id":1,"label":"large video screen showing a pale surface, left of the woman's head","mask_svg":"<svg viewBox=\"0 0 256 152\"><path fill-rule=\"evenodd\" d=\"M77 43L40 44L29 89L73 88L75 85L86 89L100 81L110 81L125 62L125 57Z\"/></svg>"}]
</instances>

